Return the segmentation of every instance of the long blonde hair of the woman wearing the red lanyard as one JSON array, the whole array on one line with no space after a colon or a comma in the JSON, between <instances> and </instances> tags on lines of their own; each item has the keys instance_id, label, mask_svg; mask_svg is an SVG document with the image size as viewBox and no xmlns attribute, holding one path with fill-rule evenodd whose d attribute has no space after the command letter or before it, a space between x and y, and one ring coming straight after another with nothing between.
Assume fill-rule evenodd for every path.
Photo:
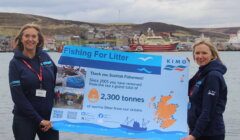
<instances>
[{"instance_id":1,"label":"long blonde hair of the woman wearing the red lanyard","mask_svg":"<svg viewBox=\"0 0 240 140\"><path fill-rule=\"evenodd\" d=\"M20 29L19 33L17 34L17 36L14 39L14 48L19 48L21 51L23 51L23 44L22 44L22 36L23 36L23 32L26 29L29 28L34 28L35 30L38 31L38 44L37 47L43 48L44 46L44 36L41 32L40 26L30 23L30 24L25 24L24 26L22 26L22 28Z\"/></svg>"}]
</instances>

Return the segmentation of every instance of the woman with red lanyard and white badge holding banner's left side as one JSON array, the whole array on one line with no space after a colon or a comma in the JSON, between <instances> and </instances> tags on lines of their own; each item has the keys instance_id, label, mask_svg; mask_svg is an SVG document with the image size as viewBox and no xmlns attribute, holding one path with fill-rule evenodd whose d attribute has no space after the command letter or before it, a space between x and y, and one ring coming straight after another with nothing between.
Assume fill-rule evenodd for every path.
<instances>
[{"instance_id":1,"label":"woman with red lanyard and white badge holding banner's left side","mask_svg":"<svg viewBox=\"0 0 240 140\"><path fill-rule=\"evenodd\" d=\"M24 25L15 38L14 56L9 64L15 140L34 140L36 134L39 140L59 139L49 121L57 68L42 51L43 45L43 34L35 24Z\"/></svg>"}]
</instances>

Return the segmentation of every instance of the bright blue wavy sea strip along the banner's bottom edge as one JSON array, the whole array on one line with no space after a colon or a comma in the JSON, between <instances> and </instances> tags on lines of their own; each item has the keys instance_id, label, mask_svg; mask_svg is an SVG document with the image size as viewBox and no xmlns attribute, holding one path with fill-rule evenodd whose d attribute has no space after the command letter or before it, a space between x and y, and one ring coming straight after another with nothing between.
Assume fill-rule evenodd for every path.
<instances>
[{"instance_id":1,"label":"bright blue wavy sea strip along the banner's bottom edge","mask_svg":"<svg viewBox=\"0 0 240 140\"><path fill-rule=\"evenodd\" d=\"M129 130L121 127L108 128L91 123L70 123L67 121L54 121L53 126L56 130L66 132L87 133L121 138L141 138L144 140L180 140L181 138L187 136L187 133L182 131L164 132L160 130L151 130L140 131L139 133L138 131L129 132Z\"/></svg>"}]
</instances>

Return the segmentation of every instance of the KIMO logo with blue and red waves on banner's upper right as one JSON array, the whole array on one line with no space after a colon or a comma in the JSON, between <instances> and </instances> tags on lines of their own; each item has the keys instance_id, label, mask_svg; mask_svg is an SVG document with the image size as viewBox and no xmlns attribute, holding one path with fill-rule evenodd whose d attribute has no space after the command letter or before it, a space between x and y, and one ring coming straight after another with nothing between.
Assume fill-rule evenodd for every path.
<instances>
[{"instance_id":1,"label":"KIMO logo with blue and red waves on banner's upper right","mask_svg":"<svg viewBox=\"0 0 240 140\"><path fill-rule=\"evenodd\" d=\"M168 71L183 71L187 66L187 59L167 59L167 65L164 70Z\"/></svg>"}]
</instances>

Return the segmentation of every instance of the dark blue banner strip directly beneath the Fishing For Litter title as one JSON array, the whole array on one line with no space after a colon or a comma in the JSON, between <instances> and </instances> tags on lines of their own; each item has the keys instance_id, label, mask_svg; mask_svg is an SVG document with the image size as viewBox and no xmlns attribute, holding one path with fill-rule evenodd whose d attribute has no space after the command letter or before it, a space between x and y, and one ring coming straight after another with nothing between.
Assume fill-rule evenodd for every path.
<instances>
[{"instance_id":1,"label":"dark blue banner strip directly beneath the Fishing For Litter title","mask_svg":"<svg viewBox=\"0 0 240 140\"><path fill-rule=\"evenodd\" d=\"M161 67L159 66L157 67L157 66L123 64L123 63L114 63L114 62L106 62L106 61L98 61L98 60L72 58L72 57L66 57L66 56L61 56L58 63L62 65L82 66L82 67L90 67L90 68L105 69L105 70L117 70L117 71L127 71L127 72L157 74L157 75L161 74Z\"/></svg>"}]
</instances>

